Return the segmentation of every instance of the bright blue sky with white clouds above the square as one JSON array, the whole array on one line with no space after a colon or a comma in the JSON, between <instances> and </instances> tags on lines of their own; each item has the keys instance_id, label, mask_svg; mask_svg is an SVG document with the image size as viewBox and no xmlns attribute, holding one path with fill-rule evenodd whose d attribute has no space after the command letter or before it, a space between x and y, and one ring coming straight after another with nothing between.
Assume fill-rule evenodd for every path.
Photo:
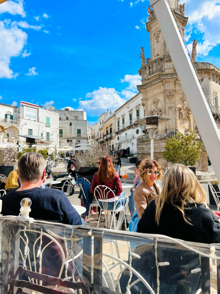
<instances>
[{"instance_id":1,"label":"bright blue sky with white clouds above the square","mask_svg":"<svg viewBox=\"0 0 220 294\"><path fill-rule=\"evenodd\" d=\"M189 51L197 39L197 61L220 68L220 1L184 2ZM115 110L137 93L142 46L150 57L148 5L147 0L1 4L0 102L84 109L90 124L107 108Z\"/></svg>"}]
</instances>

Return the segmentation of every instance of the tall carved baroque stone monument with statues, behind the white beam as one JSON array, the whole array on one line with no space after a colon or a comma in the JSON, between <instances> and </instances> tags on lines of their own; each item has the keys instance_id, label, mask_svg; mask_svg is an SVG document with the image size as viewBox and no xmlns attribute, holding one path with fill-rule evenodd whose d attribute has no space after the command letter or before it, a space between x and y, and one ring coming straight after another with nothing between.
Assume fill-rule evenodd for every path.
<instances>
[{"instance_id":1,"label":"tall carved baroque stone monument with statues, behind the white beam","mask_svg":"<svg viewBox=\"0 0 220 294\"><path fill-rule=\"evenodd\" d=\"M184 28L188 21L184 13L185 3L179 6L179 0L169 2L179 21L182 36L184 36ZM184 133L187 129L195 130L198 139L200 136L160 26L150 6L148 6L148 14L146 29L150 32L151 56L146 59L146 63L143 63L141 58L141 68L138 73L142 77L142 85L138 85L137 88L143 95L144 116L163 115L171 118L170 121L159 126L154 140L154 159L159 161L165 169L170 165L162 156L167 137L172 138L177 132ZM192 53L194 59L196 58L196 45ZM143 47L141 52L142 49ZM142 53L141 55L144 56ZM137 150L139 158L150 158L150 138L146 130L143 131L142 136L137 138ZM197 168L201 171L208 170L205 150L202 150Z\"/></svg>"}]
</instances>

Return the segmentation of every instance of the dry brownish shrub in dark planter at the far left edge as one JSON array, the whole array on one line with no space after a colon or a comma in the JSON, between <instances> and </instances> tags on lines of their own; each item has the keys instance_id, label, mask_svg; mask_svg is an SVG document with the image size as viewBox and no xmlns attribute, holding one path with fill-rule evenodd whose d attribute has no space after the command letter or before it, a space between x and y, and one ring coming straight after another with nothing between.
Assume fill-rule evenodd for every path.
<instances>
[{"instance_id":1,"label":"dry brownish shrub in dark planter at the far left edge","mask_svg":"<svg viewBox=\"0 0 220 294\"><path fill-rule=\"evenodd\" d=\"M9 176L9 173L14 170L17 165L16 157L18 151L7 147L0 150L0 174Z\"/></svg>"}]
</instances>

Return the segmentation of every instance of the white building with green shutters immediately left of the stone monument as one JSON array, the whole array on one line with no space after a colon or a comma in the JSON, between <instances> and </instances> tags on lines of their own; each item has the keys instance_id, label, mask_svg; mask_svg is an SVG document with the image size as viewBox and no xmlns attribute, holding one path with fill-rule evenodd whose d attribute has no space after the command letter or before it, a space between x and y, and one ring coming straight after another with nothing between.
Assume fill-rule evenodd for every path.
<instances>
[{"instance_id":1,"label":"white building with green shutters immediately left of the stone monument","mask_svg":"<svg viewBox=\"0 0 220 294\"><path fill-rule=\"evenodd\" d=\"M133 122L144 117L141 98L142 94L138 93L115 111L116 150L130 148L130 153L136 153L137 151L137 137L141 136L143 133L140 127L133 126ZM138 117L137 109L139 109ZM130 113L132 113L132 121L130 121ZM124 118L124 120L122 120L122 118Z\"/></svg>"}]
</instances>

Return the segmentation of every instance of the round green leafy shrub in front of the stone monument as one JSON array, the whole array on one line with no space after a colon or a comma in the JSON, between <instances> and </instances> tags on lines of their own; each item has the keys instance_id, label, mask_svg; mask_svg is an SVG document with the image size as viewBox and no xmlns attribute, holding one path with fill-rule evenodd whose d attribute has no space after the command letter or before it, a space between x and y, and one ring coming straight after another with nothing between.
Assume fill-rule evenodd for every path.
<instances>
[{"instance_id":1,"label":"round green leafy shrub in front of the stone monument","mask_svg":"<svg viewBox=\"0 0 220 294\"><path fill-rule=\"evenodd\" d=\"M196 174L196 168L192 166L199 160L203 144L201 140L196 141L195 139L196 133L192 130L166 138L163 158L172 164L182 163Z\"/></svg>"}]
</instances>

